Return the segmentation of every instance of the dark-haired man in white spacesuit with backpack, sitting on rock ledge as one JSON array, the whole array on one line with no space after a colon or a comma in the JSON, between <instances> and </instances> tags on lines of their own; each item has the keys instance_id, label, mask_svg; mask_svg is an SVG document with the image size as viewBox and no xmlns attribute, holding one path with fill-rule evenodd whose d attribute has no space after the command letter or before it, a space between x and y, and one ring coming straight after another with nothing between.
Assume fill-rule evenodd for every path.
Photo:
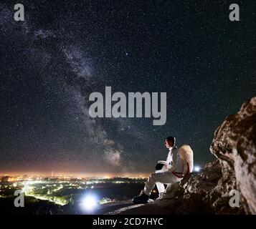
<instances>
[{"instance_id":1,"label":"dark-haired man in white spacesuit with backpack, sitting on rock ledge","mask_svg":"<svg viewBox=\"0 0 256 229\"><path fill-rule=\"evenodd\" d=\"M184 175L193 171L193 151L189 145L176 147L175 137L166 137L165 145L169 148L166 161L158 161L156 172L151 173L141 194L133 198L133 203L148 203L149 196L155 185L159 196L165 193L163 184L174 184L180 182Z\"/></svg>"}]
</instances>

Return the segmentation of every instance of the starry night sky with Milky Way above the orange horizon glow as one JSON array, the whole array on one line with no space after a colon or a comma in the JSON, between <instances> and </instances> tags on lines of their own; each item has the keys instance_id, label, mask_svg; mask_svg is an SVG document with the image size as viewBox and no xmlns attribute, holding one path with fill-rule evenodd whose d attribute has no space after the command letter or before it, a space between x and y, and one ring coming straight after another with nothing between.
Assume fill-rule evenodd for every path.
<instances>
[{"instance_id":1,"label":"starry night sky with Milky Way above the orange horizon glow","mask_svg":"<svg viewBox=\"0 0 256 229\"><path fill-rule=\"evenodd\" d=\"M214 160L214 130L256 92L256 4L18 1L0 4L0 173L141 174L165 137ZM91 92L166 92L167 122L88 115Z\"/></svg>"}]
</instances>

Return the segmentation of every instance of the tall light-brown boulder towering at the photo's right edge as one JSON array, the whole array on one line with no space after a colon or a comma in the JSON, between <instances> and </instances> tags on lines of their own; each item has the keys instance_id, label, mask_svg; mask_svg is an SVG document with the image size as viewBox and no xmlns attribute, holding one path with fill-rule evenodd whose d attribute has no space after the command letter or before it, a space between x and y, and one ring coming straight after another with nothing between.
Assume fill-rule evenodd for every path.
<instances>
[{"instance_id":1,"label":"tall light-brown boulder towering at the photo's right edge","mask_svg":"<svg viewBox=\"0 0 256 229\"><path fill-rule=\"evenodd\" d=\"M227 181L228 175L235 177L236 184L232 186L240 192L240 205L245 212L256 214L256 97L224 120L214 133L210 150L222 161ZM221 183L225 185L224 180Z\"/></svg>"}]
</instances>

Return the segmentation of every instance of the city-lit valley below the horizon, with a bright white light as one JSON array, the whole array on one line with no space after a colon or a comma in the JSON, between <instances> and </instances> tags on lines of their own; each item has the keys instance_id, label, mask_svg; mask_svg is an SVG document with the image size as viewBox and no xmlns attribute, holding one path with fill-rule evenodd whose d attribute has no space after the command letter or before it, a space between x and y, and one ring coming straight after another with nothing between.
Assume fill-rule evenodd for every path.
<instances>
[{"instance_id":1,"label":"city-lit valley below the horizon, with a bright white light","mask_svg":"<svg viewBox=\"0 0 256 229\"><path fill-rule=\"evenodd\" d=\"M99 205L125 200L121 190L126 190L127 185L144 185L146 179L141 176L106 178L0 175L0 181L0 198L12 198L15 190L22 190L26 197L46 200L55 205L77 203L86 213Z\"/></svg>"}]
</instances>

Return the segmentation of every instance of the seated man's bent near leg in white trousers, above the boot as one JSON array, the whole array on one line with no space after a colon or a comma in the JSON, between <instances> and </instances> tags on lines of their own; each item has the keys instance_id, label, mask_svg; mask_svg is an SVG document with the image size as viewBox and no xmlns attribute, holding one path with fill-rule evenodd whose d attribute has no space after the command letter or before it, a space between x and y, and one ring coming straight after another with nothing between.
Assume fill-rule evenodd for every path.
<instances>
[{"instance_id":1,"label":"seated man's bent near leg in white trousers, above the boot","mask_svg":"<svg viewBox=\"0 0 256 229\"><path fill-rule=\"evenodd\" d=\"M150 195L153 187L156 185L156 182L160 182L161 184L169 184L179 182L180 180L181 178L174 176L171 172L151 173L151 175L148 177L148 181L146 182L143 192L146 193L146 195Z\"/></svg>"}]
</instances>

